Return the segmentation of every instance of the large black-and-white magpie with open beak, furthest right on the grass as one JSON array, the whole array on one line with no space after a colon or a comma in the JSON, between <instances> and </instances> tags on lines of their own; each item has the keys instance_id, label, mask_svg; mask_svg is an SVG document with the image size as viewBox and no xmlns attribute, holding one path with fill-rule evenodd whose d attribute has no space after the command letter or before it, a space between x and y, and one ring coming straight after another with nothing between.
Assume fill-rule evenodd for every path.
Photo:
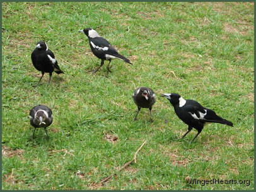
<instances>
[{"instance_id":1,"label":"large black-and-white magpie with open beak, furthest right on the grass","mask_svg":"<svg viewBox=\"0 0 256 192\"><path fill-rule=\"evenodd\" d=\"M189 125L188 131L183 135L183 137L185 137L192 128L197 130L197 135L194 137L192 142L201 133L206 124L215 122L233 127L232 122L219 117L213 110L202 107L202 105L195 100L183 99L177 93L163 93L161 96L170 101L178 118L185 122L185 124Z\"/></svg>"}]
</instances>

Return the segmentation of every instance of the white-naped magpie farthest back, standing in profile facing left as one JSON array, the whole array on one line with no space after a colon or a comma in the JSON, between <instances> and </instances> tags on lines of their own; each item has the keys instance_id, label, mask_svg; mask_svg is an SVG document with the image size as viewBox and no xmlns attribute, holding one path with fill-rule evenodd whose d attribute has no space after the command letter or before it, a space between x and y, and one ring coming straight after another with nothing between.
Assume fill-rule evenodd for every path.
<instances>
[{"instance_id":1,"label":"white-naped magpie farthest back, standing in profile facing left","mask_svg":"<svg viewBox=\"0 0 256 192\"><path fill-rule=\"evenodd\" d=\"M79 32L84 33L86 36L88 36L91 51L96 57L102 60L102 62L100 63L100 67L96 68L96 70L94 70L93 72L97 72L102 67L102 65L104 65L105 60L109 61L107 70L108 72L111 72L109 68L110 62L115 58L125 61L126 63L130 63L132 65L129 59L117 53L117 50L112 45L110 45L107 40L98 35L97 31L95 31L94 29L86 28L80 30Z\"/></svg>"}]
</instances>

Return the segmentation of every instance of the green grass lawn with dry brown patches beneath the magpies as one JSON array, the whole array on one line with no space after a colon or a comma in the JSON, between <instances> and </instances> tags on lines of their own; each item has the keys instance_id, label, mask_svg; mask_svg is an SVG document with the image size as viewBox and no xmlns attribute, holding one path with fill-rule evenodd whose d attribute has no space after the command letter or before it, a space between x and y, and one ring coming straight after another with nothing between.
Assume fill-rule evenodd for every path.
<instances>
[{"instance_id":1,"label":"green grass lawn with dry brown patches beneath the magpies","mask_svg":"<svg viewBox=\"0 0 256 192\"><path fill-rule=\"evenodd\" d=\"M253 3L3 3L3 189L253 189ZM79 29L94 28L134 65L97 72ZM30 55L44 40L65 74L40 72ZM137 107L137 87L156 93L154 122ZM160 93L179 93L233 122L195 129ZM42 104L54 122L36 131ZM106 139L110 137L110 139ZM117 140L111 141L111 137ZM105 184L99 182L131 161ZM188 179L250 180L189 184Z\"/></svg>"}]
</instances>

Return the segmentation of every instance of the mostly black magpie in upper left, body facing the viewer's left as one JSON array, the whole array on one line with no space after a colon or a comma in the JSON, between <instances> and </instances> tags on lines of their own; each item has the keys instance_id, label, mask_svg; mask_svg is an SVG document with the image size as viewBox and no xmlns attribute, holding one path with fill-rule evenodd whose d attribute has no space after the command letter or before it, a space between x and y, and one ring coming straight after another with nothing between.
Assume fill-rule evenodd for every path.
<instances>
[{"instance_id":1,"label":"mostly black magpie in upper left, body facing the viewer's left","mask_svg":"<svg viewBox=\"0 0 256 192\"><path fill-rule=\"evenodd\" d=\"M44 76L44 73L49 73L50 78L48 85L50 85L52 72L55 72L57 74L64 73L59 68L58 62L57 60L55 60L54 53L49 50L47 44L44 41L37 42L37 46L31 54L31 59L33 66L42 73L42 77ZM40 78L37 85L40 83L42 77ZM34 87L37 87L37 85L35 85Z\"/></svg>"}]
</instances>

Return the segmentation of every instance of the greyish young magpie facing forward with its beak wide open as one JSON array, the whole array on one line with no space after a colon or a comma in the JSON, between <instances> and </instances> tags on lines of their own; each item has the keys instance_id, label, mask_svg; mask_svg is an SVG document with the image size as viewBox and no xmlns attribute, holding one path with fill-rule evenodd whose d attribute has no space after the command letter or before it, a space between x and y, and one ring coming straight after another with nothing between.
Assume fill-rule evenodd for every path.
<instances>
[{"instance_id":1,"label":"greyish young magpie facing forward with its beak wide open","mask_svg":"<svg viewBox=\"0 0 256 192\"><path fill-rule=\"evenodd\" d=\"M156 102L156 95L154 94L153 90L148 87L136 88L132 95L132 98L134 100L134 103L137 105L137 114L139 114L139 110L141 110L141 107L148 108L150 111L150 120L153 121L153 119L151 118L151 110L152 106ZM137 114L134 120L137 120Z\"/></svg>"}]
</instances>

